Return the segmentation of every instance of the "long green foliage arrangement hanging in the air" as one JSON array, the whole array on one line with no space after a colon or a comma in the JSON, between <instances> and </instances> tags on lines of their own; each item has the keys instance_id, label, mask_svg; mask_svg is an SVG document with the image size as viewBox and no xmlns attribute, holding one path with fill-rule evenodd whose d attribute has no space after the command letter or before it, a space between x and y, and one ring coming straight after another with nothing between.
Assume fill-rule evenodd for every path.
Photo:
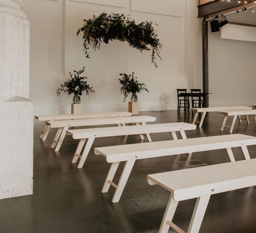
<instances>
[{"instance_id":1,"label":"long green foliage arrangement hanging in the air","mask_svg":"<svg viewBox=\"0 0 256 233\"><path fill-rule=\"evenodd\" d=\"M84 19L84 26L78 30L77 35L83 32L83 46L87 58L90 58L89 46L92 46L95 51L100 48L102 41L106 44L109 40L127 41L129 46L141 52L150 50L148 46L151 46L151 62L157 67L156 56L161 60L159 50L162 45L152 24L151 21L136 24L133 19L123 14L108 15L103 12L98 17L94 15L92 19Z\"/></svg>"}]
</instances>

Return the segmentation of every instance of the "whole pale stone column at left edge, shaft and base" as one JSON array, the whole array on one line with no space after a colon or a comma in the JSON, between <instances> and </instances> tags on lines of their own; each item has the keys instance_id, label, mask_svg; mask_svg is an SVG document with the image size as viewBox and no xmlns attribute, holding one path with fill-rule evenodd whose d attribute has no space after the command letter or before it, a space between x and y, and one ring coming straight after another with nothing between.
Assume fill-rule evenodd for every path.
<instances>
[{"instance_id":1,"label":"whole pale stone column at left edge, shaft and base","mask_svg":"<svg viewBox=\"0 0 256 233\"><path fill-rule=\"evenodd\" d=\"M33 193L29 22L21 0L0 0L0 199Z\"/></svg>"}]
</instances>

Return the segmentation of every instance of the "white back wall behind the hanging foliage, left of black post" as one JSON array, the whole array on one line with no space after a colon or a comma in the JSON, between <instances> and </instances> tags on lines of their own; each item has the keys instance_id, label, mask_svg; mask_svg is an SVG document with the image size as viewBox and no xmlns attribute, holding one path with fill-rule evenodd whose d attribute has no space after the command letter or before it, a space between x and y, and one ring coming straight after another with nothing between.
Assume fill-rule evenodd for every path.
<instances>
[{"instance_id":1,"label":"white back wall behind the hanging foliage, left of black post","mask_svg":"<svg viewBox=\"0 0 256 233\"><path fill-rule=\"evenodd\" d=\"M154 2L151 4L156 4ZM31 22L30 98L34 103L34 114L68 113L72 98L65 94L57 97L55 90L68 78L69 72L83 66L89 84L96 91L90 98L82 96L83 112L126 111L128 104L123 103L118 78L119 73L132 71L150 91L138 96L141 111L175 109L177 88L201 85L201 81L197 82L201 76L201 43L197 51L197 46L191 46L191 40L188 40L192 38L197 43L198 30L194 31L191 26L200 23L200 19L196 18L196 3L190 5L186 8L195 10L190 16L192 21L162 12L130 11L129 0L126 8L70 0L24 0L24 11ZM136 5L132 7L135 9ZM154 5L149 10L152 7ZM183 16L185 0L178 7L169 9L168 14ZM158 60L157 69L151 63L151 51L141 54L119 41L102 44L96 52L90 49L91 59L86 59L82 34L77 37L77 29L83 26L83 19L104 11L130 15L137 23L145 20L158 23L159 27L155 29L163 47L160 51L162 61Z\"/></svg>"}]
</instances>

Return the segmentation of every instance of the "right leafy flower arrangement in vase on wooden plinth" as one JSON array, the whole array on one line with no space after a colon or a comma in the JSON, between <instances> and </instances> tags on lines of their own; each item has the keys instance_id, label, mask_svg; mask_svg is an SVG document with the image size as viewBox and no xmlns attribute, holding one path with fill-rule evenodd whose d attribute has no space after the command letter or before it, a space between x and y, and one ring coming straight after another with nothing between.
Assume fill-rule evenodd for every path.
<instances>
[{"instance_id":1,"label":"right leafy flower arrangement in vase on wooden plinth","mask_svg":"<svg viewBox=\"0 0 256 233\"><path fill-rule=\"evenodd\" d=\"M146 85L144 83L139 83L137 77L134 77L134 72L132 72L132 75L127 75L125 73L119 75L123 76L122 79L118 80L122 85L121 93L124 95L124 102L129 94L131 94L131 102L137 102L137 93L141 93L142 91L149 92Z\"/></svg>"}]
</instances>

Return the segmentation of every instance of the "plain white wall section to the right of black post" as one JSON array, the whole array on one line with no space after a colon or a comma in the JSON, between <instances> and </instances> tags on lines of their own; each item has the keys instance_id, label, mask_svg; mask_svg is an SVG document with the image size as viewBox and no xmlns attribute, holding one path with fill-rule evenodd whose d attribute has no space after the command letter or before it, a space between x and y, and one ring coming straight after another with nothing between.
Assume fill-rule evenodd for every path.
<instances>
[{"instance_id":1,"label":"plain white wall section to the right of black post","mask_svg":"<svg viewBox=\"0 0 256 233\"><path fill-rule=\"evenodd\" d=\"M221 32L212 33L210 27L208 33L209 92L213 93L209 104L252 106L256 101L256 43L221 39Z\"/></svg>"}]
</instances>

